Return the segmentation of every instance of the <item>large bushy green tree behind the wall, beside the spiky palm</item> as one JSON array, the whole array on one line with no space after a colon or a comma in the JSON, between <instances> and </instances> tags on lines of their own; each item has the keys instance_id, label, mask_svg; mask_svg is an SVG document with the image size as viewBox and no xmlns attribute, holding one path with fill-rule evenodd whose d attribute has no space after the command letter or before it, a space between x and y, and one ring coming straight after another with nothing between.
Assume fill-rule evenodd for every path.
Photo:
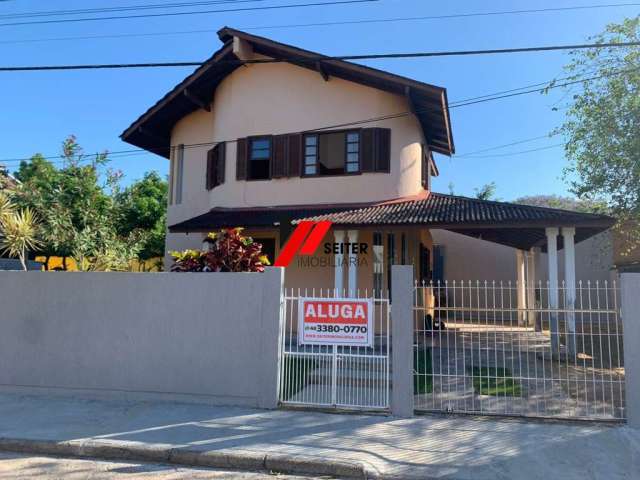
<instances>
[{"instance_id":1,"label":"large bushy green tree behind the wall, beside the spiky palm","mask_svg":"<svg viewBox=\"0 0 640 480\"><path fill-rule=\"evenodd\" d=\"M35 155L16 172L21 182L16 202L32 209L42 221L40 253L72 257L80 270L129 269L154 236L153 228L145 225L153 223L153 215L159 217L155 223L164 225L163 212L148 212L142 223L130 221L135 212L125 208L125 200L135 184L121 190L122 174L106 168L108 152L85 155L70 136L62 144L61 160L62 167L56 168Z\"/></svg>"}]
</instances>

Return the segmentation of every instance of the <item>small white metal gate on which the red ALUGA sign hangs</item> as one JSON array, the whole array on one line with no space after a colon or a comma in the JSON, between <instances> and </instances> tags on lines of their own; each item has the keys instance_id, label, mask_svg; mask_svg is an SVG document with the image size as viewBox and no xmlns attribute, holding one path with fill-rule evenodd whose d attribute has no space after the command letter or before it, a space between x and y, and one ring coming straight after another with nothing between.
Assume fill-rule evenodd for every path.
<instances>
[{"instance_id":1,"label":"small white metal gate on which the red ALUGA sign hangs","mask_svg":"<svg viewBox=\"0 0 640 480\"><path fill-rule=\"evenodd\" d=\"M337 295L340 293L340 295ZM389 408L389 298L358 291L373 301L373 343L365 346L299 345L301 297L344 298L333 289L286 289L281 315L278 394L282 405L386 410Z\"/></svg>"}]
</instances>

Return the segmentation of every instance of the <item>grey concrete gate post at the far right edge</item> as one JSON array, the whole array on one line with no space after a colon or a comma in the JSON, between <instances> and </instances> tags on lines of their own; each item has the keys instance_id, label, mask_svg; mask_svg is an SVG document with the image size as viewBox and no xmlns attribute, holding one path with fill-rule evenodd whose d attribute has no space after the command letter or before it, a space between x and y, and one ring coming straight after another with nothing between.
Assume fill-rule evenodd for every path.
<instances>
[{"instance_id":1,"label":"grey concrete gate post at the far right edge","mask_svg":"<svg viewBox=\"0 0 640 480\"><path fill-rule=\"evenodd\" d=\"M627 423L640 429L640 273L620 276Z\"/></svg>"}]
</instances>

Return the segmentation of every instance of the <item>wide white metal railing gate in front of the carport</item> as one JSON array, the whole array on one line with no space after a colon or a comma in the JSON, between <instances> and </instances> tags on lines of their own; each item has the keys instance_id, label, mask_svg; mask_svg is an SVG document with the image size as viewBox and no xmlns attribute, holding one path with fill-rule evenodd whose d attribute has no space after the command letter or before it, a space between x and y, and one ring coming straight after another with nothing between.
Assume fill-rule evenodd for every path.
<instances>
[{"instance_id":1,"label":"wide white metal railing gate in front of the carport","mask_svg":"<svg viewBox=\"0 0 640 480\"><path fill-rule=\"evenodd\" d=\"M417 410L621 420L615 282L415 285Z\"/></svg>"}]
</instances>

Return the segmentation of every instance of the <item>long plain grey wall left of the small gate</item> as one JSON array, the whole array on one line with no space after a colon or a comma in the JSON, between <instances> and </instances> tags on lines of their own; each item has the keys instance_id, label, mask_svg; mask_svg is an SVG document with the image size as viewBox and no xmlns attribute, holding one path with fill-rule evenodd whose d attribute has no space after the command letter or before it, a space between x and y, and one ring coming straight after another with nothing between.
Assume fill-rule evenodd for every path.
<instances>
[{"instance_id":1,"label":"long plain grey wall left of the small gate","mask_svg":"<svg viewBox=\"0 0 640 480\"><path fill-rule=\"evenodd\" d=\"M0 385L276 406L282 270L0 272Z\"/></svg>"}]
</instances>

